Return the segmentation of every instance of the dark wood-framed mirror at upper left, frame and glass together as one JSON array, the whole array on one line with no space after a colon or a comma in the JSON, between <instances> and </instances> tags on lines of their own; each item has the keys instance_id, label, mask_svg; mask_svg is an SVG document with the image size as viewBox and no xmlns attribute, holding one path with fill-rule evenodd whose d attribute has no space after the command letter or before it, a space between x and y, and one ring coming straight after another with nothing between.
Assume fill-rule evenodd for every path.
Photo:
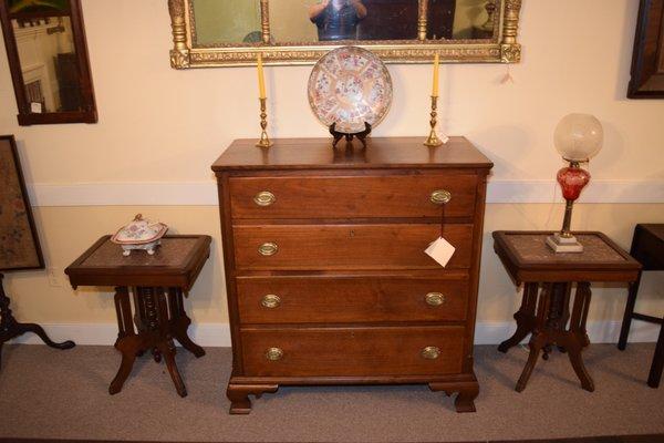
<instances>
[{"instance_id":1,"label":"dark wood-framed mirror at upper left, frame and glass together","mask_svg":"<svg viewBox=\"0 0 664 443\"><path fill-rule=\"evenodd\" d=\"M96 123L80 0L0 0L19 124Z\"/></svg>"}]
</instances>

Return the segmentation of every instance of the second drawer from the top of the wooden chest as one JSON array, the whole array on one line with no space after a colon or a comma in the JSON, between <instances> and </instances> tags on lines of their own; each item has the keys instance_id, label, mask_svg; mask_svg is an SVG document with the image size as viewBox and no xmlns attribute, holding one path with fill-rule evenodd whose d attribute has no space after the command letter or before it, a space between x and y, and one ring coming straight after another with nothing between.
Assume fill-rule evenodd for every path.
<instances>
[{"instance_id":1,"label":"second drawer from the top of the wooden chest","mask_svg":"<svg viewBox=\"0 0 664 443\"><path fill-rule=\"evenodd\" d=\"M447 269L470 267L473 225L447 224ZM440 225L236 225L236 267L248 270L443 269L424 250Z\"/></svg>"}]
</instances>

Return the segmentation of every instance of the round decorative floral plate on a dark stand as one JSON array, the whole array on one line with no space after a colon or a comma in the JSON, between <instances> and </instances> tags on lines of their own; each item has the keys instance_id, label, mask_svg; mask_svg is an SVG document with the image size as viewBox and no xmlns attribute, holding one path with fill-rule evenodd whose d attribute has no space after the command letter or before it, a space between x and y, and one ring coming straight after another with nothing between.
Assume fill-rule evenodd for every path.
<instances>
[{"instance_id":1,"label":"round decorative floral plate on a dark stand","mask_svg":"<svg viewBox=\"0 0 664 443\"><path fill-rule=\"evenodd\" d=\"M330 51L309 78L309 104L325 126L356 134L375 127L392 104L392 78L373 52L357 47Z\"/></svg>"}]
</instances>

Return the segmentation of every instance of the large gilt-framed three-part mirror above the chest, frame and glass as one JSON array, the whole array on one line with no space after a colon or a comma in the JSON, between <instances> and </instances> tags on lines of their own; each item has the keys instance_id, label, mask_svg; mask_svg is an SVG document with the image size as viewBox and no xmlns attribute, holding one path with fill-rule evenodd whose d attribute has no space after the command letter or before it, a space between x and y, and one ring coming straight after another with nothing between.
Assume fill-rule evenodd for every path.
<instances>
[{"instance_id":1,"label":"large gilt-framed three-part mirror above the chest, frame and glass","mask_svg":"<svg viewBox=\"0 0 664 443\"><path fill-rule=\"evenodd\" d=\"M175 69L313 64L359 45L385 62L517 63L521 0L168 0Z\"/></svg>"}]
</instances>

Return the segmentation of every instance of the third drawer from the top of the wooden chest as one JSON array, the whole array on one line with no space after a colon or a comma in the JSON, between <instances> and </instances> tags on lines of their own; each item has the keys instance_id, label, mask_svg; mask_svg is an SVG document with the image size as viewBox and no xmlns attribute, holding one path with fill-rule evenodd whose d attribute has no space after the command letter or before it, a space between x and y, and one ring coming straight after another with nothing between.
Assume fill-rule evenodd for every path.
<instances>
[{"instance_id":1,"label":"third drawer from the top of the wooden chest","mask_svg":"<svg viewBox=\"0 0 664 443\"><path fill-rule=\"evenodd\" d=\"M463 321L468 281L397 277L238 277L240 322Z\"/></svg>"}]
</instances>

